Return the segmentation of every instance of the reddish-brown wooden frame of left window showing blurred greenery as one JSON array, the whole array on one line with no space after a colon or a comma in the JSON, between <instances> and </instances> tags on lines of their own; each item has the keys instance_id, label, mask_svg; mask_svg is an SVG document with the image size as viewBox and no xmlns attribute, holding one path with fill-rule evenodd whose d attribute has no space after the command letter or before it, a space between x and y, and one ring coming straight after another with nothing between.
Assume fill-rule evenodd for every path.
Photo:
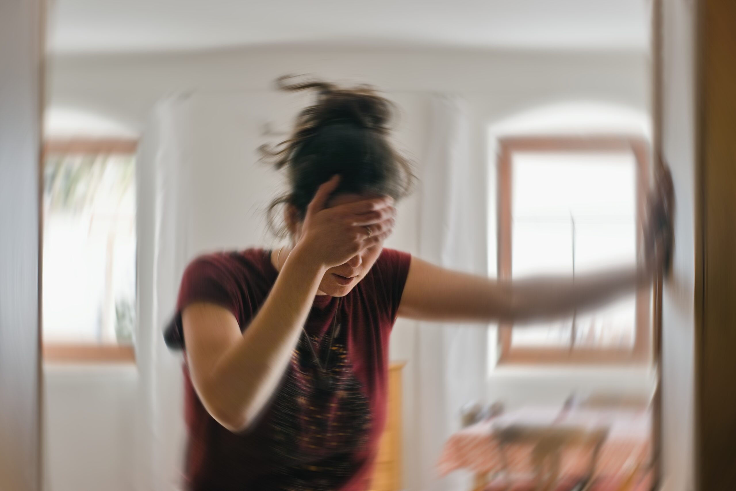
<instances>
[{"instance_id":1,"label":"reddish-brown wooden frame of left window showing blurred greenery","mask_svg":"<svg viewBox=\"0 0 736 491\"><path fill-rule=\"evenodd\" d=\"M68 138L49 139L43 142L41 166L46 165L49 154L133 154L138 141L132 138ZM41 169L43 175L43 168ZM43 210L43 192L40 193L40 209ZM43 219L43 217L42 217ZM43 227L41 227L43 230ZM43 244L43 237L42 237ZM43 247L43 246L42 246ZM41 303L43 305L43 301ZM43 308L43 307L42 307ZM133 345L94 345L91 343L43 342L44 363L53 364L135 364Z\"/></svg>"}]
</instances>

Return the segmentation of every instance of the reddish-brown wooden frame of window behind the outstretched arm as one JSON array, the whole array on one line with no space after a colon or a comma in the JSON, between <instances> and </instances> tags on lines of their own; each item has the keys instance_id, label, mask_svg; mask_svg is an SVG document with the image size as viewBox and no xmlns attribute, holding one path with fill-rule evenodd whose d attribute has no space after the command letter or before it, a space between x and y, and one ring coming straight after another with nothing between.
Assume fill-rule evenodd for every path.
<instances>
[{"instance_id":1,"label":"reddish-brown wooden frame of window behind the outstretched arm","mask_svg":"<svg viewBox=\"0 0 736 491\"><path fill-rule=\"evenodd\" d=\"M631 152L637 162L637 216L645 211L649 182L649 152L636 136L531 136L501 138L498 153L498 278L512 278L512 159L517 152ZM637 255L643 232L637 230ZM636 334L633 349L565 347L512 347L511 323L498 326L499 364L646 364L651 358L651 292L637 293Z\"/></svg>"}]
</instances>

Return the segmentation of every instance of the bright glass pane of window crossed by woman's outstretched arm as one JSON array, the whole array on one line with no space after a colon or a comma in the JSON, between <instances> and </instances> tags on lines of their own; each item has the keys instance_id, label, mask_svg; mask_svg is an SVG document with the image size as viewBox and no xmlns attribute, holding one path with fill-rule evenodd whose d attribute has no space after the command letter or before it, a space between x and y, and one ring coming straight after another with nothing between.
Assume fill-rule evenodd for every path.
<instances>
[{"instance_id":1,"label":"bright glass pane of window crossed by woman's outstretched arm","mask_svg":"<svg viewBox=\"0 0 736 491\"><path fill-rule=\"evenodd\" d=\"M512 275L573 275L634 264L636 160L630 153L517 153ZM633 347L632 295L575 319L517 328L515 347ZM574 338L574 339L573 339Z\"/></svg>"}]
</instances>

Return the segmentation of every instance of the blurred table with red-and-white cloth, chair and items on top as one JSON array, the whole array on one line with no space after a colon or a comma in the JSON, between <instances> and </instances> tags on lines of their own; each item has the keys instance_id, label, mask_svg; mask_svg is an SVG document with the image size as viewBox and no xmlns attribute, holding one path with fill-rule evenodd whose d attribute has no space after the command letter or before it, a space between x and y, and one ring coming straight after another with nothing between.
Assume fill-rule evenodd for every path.
<instances>
[{"instance_id":1,"label":"blurred table with red-and-white cloth, chair and items on top","mask_svg":"<svg viewBox=\"0 0 736 491\"><path fill-rule=\"evenodd\" d=\"M439 473L470 470L473 491L648 490L651 412L639 402L570 398L508 412L471 403Z\"/></svg>"}]
</instances>

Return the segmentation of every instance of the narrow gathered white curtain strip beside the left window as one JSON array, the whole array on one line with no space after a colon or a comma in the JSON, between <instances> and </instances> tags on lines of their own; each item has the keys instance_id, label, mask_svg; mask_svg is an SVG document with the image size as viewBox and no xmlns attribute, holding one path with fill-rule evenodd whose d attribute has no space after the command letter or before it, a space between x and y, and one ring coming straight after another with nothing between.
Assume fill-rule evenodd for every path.
<instances>
[{"instance_id":1,"label":"narrow gathered white curtain strip beside the left window","mask_svg":"<svg viewBox=\"0 0 736 491\"><path fill-rule=\"evenodd\" d=\"M176 490L177 461L184 435L180 356L168 353L161 327L177 293L175 270L183 261L186 222L178 206L188 170L176 116L185 97L154 110L138 152L138 331L139 372L135 449L136 490ZM168 309L168 310L167 310ZM166 417L166 411L171 411Z\"/></svg>"}]
</instances>

